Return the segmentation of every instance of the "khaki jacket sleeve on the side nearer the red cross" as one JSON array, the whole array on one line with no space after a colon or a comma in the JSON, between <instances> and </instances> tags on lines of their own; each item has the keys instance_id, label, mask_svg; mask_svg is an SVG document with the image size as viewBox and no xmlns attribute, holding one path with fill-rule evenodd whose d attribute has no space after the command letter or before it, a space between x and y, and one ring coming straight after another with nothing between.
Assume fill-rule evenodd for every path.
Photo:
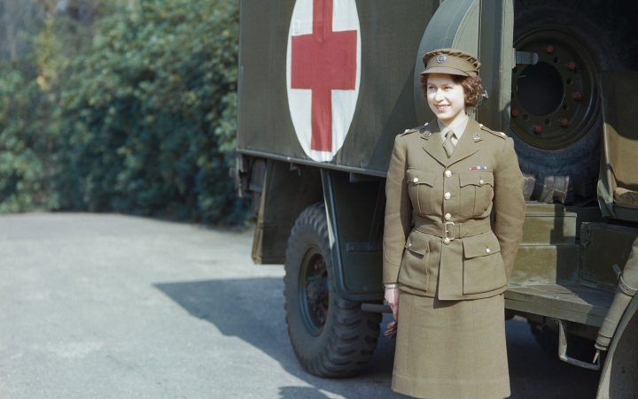
<instances>
[{"instance_id":1,"label":"khaki jacket sleeve on the side nearer the red cross","mask_svg":"<svg viewBox=\"0 0 638 399\"><path fill-rule=\"evenodd\" d=\"M394 284L398 280L403 248L408 240L412 223L412 204L406 184L406 150L401 135L394 140L394 149L385 180L385 225L383 282Z\"/></svg>"}]
</instances>

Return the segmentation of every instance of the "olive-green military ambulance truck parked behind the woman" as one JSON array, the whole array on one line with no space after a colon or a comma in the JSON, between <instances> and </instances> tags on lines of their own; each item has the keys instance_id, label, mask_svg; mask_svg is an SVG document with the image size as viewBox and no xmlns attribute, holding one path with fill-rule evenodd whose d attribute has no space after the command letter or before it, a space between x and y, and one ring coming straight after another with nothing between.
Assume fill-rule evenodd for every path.
<instances>
[{"instance_id":1,"label":"olive-green military ambulance truck parked behind the woman","mask_svg":"<svg viewBox=\"0 0 638 399\"><path fill-rule=\"evenodd\" d=\"M635 20L632 0L242 0L237 188L254 262L284 264L307 372L351 375L373 354L394 137L433 119L424 53L457 48L482 63L472 118L514 139L525 175L506 314L601 368L599 397L638 396Z\"/></svg>"}]
</instances>

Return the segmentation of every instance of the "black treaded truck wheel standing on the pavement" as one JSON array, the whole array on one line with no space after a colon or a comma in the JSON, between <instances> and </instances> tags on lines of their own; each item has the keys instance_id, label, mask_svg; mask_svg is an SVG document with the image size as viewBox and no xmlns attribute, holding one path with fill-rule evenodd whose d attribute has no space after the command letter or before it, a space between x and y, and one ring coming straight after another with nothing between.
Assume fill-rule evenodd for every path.
<instances>
[{"instance_id":1,"label":"black treaded truck wheel standing on the pavement","mask_svg":"<svg viewBox=\"0 0 638 399\"><path fill-rule=\"evenodd\" d=\"M284 297L292 349L303 368L320 377L359 372L377 346L381 314L335 290L323 203L302 211L286 249Z\"/></svg>"}]
</instances>

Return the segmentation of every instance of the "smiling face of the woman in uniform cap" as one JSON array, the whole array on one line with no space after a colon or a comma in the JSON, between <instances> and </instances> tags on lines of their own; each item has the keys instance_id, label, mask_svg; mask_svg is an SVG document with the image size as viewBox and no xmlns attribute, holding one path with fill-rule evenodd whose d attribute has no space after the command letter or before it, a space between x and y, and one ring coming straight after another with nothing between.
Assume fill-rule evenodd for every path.
<instances>
[{"instance_id":1,"label":"smiling face of the woman in uniform cap","mask_svg":"<svg viewBox=\"0 0 638 399\"><path fill-rule=\"evenodd\" d=\"M445 126L465 116L465 92L447 73L430 73L427 80L430 109Z\"/></svg>"}]
</instances>

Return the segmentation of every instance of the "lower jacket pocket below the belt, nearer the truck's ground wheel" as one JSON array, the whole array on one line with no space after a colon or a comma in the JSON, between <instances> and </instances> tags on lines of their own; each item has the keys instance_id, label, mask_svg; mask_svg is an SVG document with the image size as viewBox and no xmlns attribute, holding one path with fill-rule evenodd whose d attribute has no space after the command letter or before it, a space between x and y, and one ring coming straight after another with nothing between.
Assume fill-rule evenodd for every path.
<instances>
[{"instance_id":1,"label":"lower jacket pocket below the belt, nearer the truck's ground wheel","mask_svg":"<svg viewBox=\"0 0 638 399\"><path fill-rule=\"evenodd\" d=\"M413 230L403 251L399 282L412 288L427 291L430 273L430 237Z\"/></svg>"}]
</instances>

